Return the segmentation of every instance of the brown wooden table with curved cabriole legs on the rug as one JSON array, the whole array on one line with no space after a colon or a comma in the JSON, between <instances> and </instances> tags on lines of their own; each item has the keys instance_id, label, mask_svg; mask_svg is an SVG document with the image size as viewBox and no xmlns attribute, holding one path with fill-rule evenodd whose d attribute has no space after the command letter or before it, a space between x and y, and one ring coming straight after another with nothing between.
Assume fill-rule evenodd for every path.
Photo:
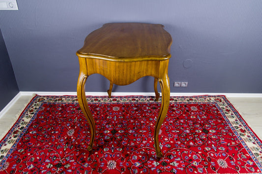
<instances>
[{"instance_id":1,"label":"brown wooden table with curved cabriole legs on the rug","mask_svg":"<svg viewBox=\"0 0 262 174\"><path fill-rule=\"evenodd\" d=\"M105 24L91 32L86 37L83 48L77 51L80 64L77 97L91 129L87 150L92 149L95 135L95 123L85 95L87 77L98 73L110 80L108 95L111 97L113 84L128 85L149 75L155 78L154 91L157 101L157 81L162 91L161 108L154 129L154 145L157 157L163 156L158 134L169 107L168 63L172 44L171 35L163 27L142 23Z\"/></svg>"}]
</instances>

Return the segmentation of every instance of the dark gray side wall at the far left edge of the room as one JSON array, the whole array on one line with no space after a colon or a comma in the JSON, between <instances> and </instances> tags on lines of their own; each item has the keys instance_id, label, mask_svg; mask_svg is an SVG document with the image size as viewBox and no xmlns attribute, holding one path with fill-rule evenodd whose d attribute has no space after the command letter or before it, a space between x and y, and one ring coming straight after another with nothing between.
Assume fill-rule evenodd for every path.
<instances>
[{"instance_id":1,"label":"dark gray side wall at the far left edge of the room","mask_svg":"<svg viewBox=\"0 0 262 174\"><path fill-rule=\"evenodd\" d=\"M13 68L0 30L0 111L18 92Z\"/></svg>"}]
</instances>

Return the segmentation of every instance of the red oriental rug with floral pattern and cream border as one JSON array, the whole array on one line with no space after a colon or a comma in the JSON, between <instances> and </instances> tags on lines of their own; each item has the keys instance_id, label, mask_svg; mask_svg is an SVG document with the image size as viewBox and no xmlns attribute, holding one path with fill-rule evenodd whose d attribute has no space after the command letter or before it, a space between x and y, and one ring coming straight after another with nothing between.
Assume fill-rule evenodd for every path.
<instances>
[{"instance_id":1,"label":"red oriental rug with floral pattern and cream border","mask_svg":"<svg viewBox=\"0 0 262 174\"><path fill-rule=\"evenodd\" d=\"M156 160L154 97L87 97L89 125L76 96L35 96L0 141L4 174L261 174L262 141L225 96L171 97Z\"/></svg>"}]
</instances>

